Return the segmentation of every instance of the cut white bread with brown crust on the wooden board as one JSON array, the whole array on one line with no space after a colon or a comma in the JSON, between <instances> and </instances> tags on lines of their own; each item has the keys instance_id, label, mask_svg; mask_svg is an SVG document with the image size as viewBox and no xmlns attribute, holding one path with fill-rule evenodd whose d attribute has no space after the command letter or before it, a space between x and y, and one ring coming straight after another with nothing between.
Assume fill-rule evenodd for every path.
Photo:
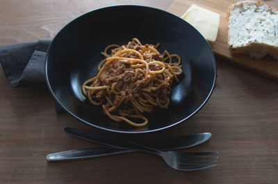
<instances>
[{"instance_id":1,"label":"cut white bread with brown crust on the wooden board","mask_svg":"<svg viewBox=\"0 0 278 184\"><path fill-rule=\"evenodd\" d=\"M278 60L278 12L260 1L239 1L229 7L228 43L232 53L252 59Z\"/></svg>"}]
</instances>

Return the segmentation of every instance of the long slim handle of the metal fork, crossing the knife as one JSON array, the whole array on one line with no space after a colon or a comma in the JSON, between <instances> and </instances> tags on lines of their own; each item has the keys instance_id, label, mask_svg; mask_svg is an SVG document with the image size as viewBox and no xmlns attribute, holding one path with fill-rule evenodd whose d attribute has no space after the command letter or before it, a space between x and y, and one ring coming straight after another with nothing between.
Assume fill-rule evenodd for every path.
<instances>
[{"instance_id":1,"label":"long slim handle of the metal fork, crossing the knife","mask_svg":"<svg viewBox=\"0 0 278 184\"><path fill-rule=\"evenodd\" d=\"M81 139L87 139L88 141L94 141L95 143L98 144L105 144L108 146L119 147L119 148L128 148L136 151L145 151L145 152L155 153L155 154L161 153L161 151L158 151L154 148L143 146L141 144L137 144L132 141L126 141L124 139L120 139L117 137L99 135L92 132L77 130L75 128L68 128L68 127L64 128L64 131L75 137L79 137Z\"/></svg>"}]
</instances>

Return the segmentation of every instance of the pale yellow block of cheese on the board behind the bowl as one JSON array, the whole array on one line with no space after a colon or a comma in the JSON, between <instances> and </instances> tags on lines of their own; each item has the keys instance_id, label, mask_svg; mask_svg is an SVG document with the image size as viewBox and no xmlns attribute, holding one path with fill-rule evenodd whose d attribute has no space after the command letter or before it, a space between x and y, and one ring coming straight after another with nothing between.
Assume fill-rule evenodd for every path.
<instances>
[{"instance_id":1,"label":"pale yellow block of cheese on the board behind the bowl","mask_svg":"<svg viewBox=\"0 0 278 184\"><path fill-rule=\"evenodd\" d=\"M218 13L193 4L181 18L194 26L208 42L215 42L220 22Z\"/></svg>"}]
</instances>

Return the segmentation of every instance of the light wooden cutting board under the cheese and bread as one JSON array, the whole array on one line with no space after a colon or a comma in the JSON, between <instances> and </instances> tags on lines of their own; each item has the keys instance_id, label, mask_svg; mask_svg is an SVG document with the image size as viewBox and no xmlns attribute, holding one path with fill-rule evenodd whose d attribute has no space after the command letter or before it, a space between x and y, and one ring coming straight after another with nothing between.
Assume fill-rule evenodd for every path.
<instances>
[{"instance_id":1,"label":"light wooden cutting board under the cheese and bread","mask_svg":"<svg viewBox=\"0 0 278 184\"><path fill-rule=\"evenodd\" d=\"M264 1L267 5L272 6L273 8L278 9L278 0ZM278 82L278 61L271 59L270 57L265 57L261 60L253 60L248 56L243 54L231 54L229 51L227 43L227 33L228 33L228 22L226 20L228 7L236 3L232 0L176 0L168 11L181 17L183 13L193 4L202 6L208 10L212 10L215 13L220 14L220 25L218 29L218 36L215 40L215 43L211 45L215 57L220 58L224 61L229 61L236 66L245 68L252 72L256 72L259 75L268 77Z\"/></svg>"}]
</instances>

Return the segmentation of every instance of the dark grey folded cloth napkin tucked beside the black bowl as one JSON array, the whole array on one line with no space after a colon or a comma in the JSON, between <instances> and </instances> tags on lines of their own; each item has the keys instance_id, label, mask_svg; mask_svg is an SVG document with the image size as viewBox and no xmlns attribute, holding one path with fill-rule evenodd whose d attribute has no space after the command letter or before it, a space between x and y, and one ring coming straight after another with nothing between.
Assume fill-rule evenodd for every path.
<instances>
[{"instance_id":1,"label":"dark grey folded cloth napkin tucked beside the black bowl","mask_svg":"<svg viewBox=\"0 0 278 184\"><path fill-rule=\"evenodd\" d=\"M47 90L44 63L51 40L0 47L0 63L12 86ZM56 112L62 112L56 104Z\"/></svg>"}]
</instances>

